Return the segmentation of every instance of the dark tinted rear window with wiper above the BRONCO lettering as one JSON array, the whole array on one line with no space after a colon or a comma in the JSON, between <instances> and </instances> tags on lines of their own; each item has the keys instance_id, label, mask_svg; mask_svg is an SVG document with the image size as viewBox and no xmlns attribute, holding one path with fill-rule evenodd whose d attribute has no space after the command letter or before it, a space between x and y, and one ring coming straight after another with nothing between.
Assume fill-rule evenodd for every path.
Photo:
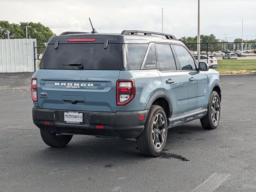
<instances>
[{"instance_id":1,"label":"dark tinted rear window with wiper above the BRONCO lettering","mask_svg":"<svg viewBox=\"0 0 256 192\"><path fill-rule=\"evenodd\" d=\"M48 44L40 69L120 70L119 46L108 44Z\"/></svg>"}]
</instances>

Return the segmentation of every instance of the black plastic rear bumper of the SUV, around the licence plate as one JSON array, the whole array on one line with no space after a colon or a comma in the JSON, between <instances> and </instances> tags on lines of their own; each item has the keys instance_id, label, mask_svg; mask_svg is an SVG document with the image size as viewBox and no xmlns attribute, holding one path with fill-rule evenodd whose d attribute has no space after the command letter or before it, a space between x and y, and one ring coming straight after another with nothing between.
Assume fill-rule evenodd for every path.
<instances>
[{"instance_id":1,"label":"black plastic rear bumper of the SUV, around the licence plate","mask_svg":"<svg viewBox=\"0 0 256 192\"><path fill-rule=\"evenodd\" d=\"M136 138L139 136L146 122L148 110L129 112L85 112L83 113L84 124L64 123L64 112L70 110L42 109L33 107L33 122L38 128L56 133L82 134L95 136L109 136L120 138ZM145 118L139 120L139 116ZM49 125L44 122L50 122ZM103 125L98 129L96 125Z\"/></svg>"}]
</instances>

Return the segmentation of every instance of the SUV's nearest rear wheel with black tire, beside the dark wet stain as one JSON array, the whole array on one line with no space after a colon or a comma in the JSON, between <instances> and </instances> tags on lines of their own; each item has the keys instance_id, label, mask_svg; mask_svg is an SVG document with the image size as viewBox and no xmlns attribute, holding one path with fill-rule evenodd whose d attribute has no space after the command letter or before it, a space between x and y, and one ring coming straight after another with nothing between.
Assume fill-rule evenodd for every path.
<instances>
[{"instance_id":1,"label":"SUV's nearest rear wheel with black tire, beside the dark wet stain","mask_svg":"<svg viewBox=\"0 0 256 192\"><path fill-rule=\"evenodd\" d=\"M156 123L154 123L154 120ZM164 124L162 123L163 120ZM161 154L167 138L167 123L163 108L158 105L152 105L148 112L144 130L142 134L136 138L138 148L144 156L156 157ZM163 125L161 126L161 124Z\"/></svg>"}]
</instances>

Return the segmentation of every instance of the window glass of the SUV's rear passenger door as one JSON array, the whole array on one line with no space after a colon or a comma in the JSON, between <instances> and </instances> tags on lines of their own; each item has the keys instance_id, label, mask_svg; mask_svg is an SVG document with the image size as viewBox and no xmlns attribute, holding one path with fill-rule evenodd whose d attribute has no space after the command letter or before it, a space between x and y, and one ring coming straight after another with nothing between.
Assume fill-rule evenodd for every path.
<instances>
[{"instance_id":1,"label":"window glass of the SUV's rear passenger door","mask_svg":"<svg viewBox=\"0 0 256 192\"><path fill-rule=\"evenodd\" d=\"M157 61L160 71L177 70L172 49L169 44L156 44Z\"/></svg>"}]
</instances>

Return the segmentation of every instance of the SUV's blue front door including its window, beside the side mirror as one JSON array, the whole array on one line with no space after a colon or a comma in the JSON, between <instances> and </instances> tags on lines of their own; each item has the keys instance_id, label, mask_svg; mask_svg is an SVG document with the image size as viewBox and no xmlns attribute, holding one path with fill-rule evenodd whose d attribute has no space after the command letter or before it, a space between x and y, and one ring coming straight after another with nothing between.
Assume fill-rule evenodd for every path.
<instances>
[{"instance_id":1,"label":"SUV's blue front door including its window, beside the side mirror","mask_svg":"<svg viewBox=\"0 0 256 192\"><path fill-rule=\"evenodd\" d=\"M181 70L186 73L188 80L188 106L187 112L206 108L208 104L208 76L206 72L199 71L193 56L185 46L174 44Z\"/></svg>"}]
</instances>

